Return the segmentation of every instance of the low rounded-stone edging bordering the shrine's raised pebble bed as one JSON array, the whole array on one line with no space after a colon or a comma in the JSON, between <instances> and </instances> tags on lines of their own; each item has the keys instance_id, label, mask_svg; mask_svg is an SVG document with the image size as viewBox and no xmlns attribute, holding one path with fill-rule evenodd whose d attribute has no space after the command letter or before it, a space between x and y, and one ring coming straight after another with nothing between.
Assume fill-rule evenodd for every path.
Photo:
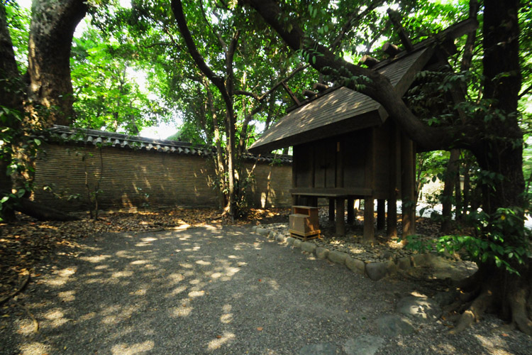
<instances>
[{"instance_id":1,"label":"low rounded-stone edging bordering the shrine's raised pebble bed","mask_svg":"<svg viewBox=\"0 0 532 355\"><path fill-rule=\"evenodd\" d=\"M343 251L329 251L321 246L316 246L312 241L301 241L292 236L286 237L283 234L275 234L275 231L261 228L259 226L251 227L253 233L266 236L268 239L275 240L279 243L286 243L293 248L299 248L307 253L313 253L318 259L328 259L333 263L345 265L353 273L366 275L371 280L377 281L387 275L397 273L399 270L408 270L419 266L431 266L440 256L433 253L415 254L413 256L403 256L401 258L390 258L387 262L369 262L358 258L353 258Z\"/></svg>"}]
</instances>

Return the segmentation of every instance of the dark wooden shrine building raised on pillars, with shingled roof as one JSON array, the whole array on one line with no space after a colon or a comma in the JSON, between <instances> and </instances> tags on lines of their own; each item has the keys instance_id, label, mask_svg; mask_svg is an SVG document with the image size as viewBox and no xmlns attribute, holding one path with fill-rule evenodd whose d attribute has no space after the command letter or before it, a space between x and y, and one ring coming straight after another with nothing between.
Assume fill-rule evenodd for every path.
<instances>
[{"instance_id":1,"label":"dark wooden shrine building raised on pillars, with shingled roof","mask_svg":"<svg viewBox=\"0 0 532 355\"><path fill-rule=\"evenodd\" d=\"M402 96L414 84L417 72L446 65L455 50L454 39L471 31L472 26L476 26L475 21L457 23L409 50L377 62L372 70L387 76ZM357 199L365 202L365 241L372 241L375 232L374 200L377 228L384 228L387 201L387 233L397 236L400 199L403 234L415 233L415 206L411 202L415 193L416 147L378 102L346 87L325 89L297 104L265 131L250 151L265 153L287 146L294 147L290 190L293 204L316 206L318 197L325 197L333 217L336 202L337 234L345 234L345 200L348 222L353 222L353 201Z\"/></svg>"}]
</instances>

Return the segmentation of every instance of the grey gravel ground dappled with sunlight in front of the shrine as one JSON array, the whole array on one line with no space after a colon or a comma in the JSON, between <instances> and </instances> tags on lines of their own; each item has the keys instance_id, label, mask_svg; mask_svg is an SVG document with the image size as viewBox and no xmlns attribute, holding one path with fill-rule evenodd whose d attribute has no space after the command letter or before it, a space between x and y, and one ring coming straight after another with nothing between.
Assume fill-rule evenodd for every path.
<instances>
[{"instance_id":1,"label":"grey gravel ground dappled with sunlight in front of the shrine","mask_svg":"<svg viewBox=\"0 0 532 355\"><path fill-rule=\"evenodd\" d=\"M531 337L492 332L494 317L458 335L439 320L382 334L377 320L425 283L373 282L248 227L104 234L35 273L0 310L2 355L532 353Z\"/></svg>"}]
</instances>

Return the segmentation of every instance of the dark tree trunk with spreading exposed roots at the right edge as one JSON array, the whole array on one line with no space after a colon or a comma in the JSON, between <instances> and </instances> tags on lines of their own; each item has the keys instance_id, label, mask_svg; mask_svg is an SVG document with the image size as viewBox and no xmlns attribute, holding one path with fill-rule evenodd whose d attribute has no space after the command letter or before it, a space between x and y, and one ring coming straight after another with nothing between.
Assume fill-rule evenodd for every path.
<instances>
[{"instance_id":1,"label":"dark tree trunk with spreading exposed roots at the right edge","mask_svg":"<svg viewBox=\"0 0 532 355\"><path fill-rule=\"evenodd\" d=\"M482 209L492 216L484 238L504 247L526 246L523 224L507 229L502 224L503 229L497 230L495 226L500 226L505 216L494 217L499 208L523 207L523 134L516 114L521 88L519 1L486 0L484 6L484 98L493 100L492 111L487 114L499 110L504 115L504 119L494 115L487 123L488 131L497 132L497 137L484 138L473 149L480 168L491 174L487 175L489 182L482 186ZM503 73L507 75L501 75ZM496 218L499 221L494 220ZM493 238L497 233L502 234L504 244ZM530 259L526 255L523 259L521 264L507 259L519 275L495 266L492 259L479 263L479 271L473 275L472 282L465 285L466 290L475 290L478 295L463 313L455 332L478 320L484 310L495 309L511 324L532 335Z\"/></svg>"}]
</instances>

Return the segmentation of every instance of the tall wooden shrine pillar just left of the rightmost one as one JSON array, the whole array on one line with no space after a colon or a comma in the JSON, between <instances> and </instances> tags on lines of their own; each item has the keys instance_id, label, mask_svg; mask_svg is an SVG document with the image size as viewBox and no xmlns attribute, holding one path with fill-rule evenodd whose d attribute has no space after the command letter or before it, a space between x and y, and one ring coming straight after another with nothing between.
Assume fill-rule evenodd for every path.
<instances>
[{"instance_id":1,"label":"tall wooden shrine pillar just left of the rightmost one","mask_svg":"<svg viewBox=\"0 0 532 355\"><path fill-rule=\"evenodd\" d=\"M397 126L391 129L389 139L389 185L388 185L388 217L387 236L389 239L397 238L397 195L399 194L399 161L401 161L401 136Z\"/></svg>"}]
</instances>

